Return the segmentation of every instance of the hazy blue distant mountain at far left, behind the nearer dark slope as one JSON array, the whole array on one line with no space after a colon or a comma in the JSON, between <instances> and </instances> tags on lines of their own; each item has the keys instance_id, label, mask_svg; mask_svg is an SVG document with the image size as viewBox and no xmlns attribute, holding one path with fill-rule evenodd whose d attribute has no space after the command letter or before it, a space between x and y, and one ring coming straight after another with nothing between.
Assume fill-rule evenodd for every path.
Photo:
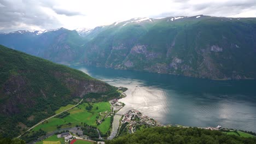
<instances>
[{"instance_id":1,"label":"hazy blue distant mountain at far left, behind the nearer dark slope","mask_svg":"<svg viewBox=\"0 0 256 144\"><path fill-rule=\"evenodd\" d=\"M0 33L0 44L58 63L71 63L86 40L65 28Z\"/></svg>"}]
</instances>

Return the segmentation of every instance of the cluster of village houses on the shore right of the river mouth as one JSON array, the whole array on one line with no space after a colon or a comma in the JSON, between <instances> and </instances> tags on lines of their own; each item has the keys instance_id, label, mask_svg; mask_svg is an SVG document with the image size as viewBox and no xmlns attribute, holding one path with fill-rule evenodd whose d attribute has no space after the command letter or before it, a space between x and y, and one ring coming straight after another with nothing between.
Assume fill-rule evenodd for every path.
<instances>
[{"instance_id":1,"label":"cluster of village houses on the shore right of the river mouth","mask_svg":"<svg viewBox=\"0 0 256 144\"><path fill-rule=\"evenodd\" d=\"M127 124L129 131L133 133L136 131L136 125L147 125L149 127L161 127L162 124L156 122L153 118L143 115L141 112L135 109L131 109L125 112L123 119L121 119L121 124Z\"/></svg>"}]
</instances>

